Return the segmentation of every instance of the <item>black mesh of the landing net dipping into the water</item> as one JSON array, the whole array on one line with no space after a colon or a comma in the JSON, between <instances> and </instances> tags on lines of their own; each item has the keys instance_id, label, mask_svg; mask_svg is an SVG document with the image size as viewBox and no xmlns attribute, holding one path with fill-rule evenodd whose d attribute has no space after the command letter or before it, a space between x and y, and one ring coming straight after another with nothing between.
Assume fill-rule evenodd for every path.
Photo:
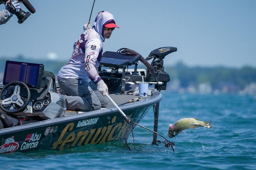
<instances>
[{"instance_id":1,"label":"black mesh of the landing net dipping into the water","mask_svg":"<svg viewBox=\"0 0 256 170\"><path fill-rule=\"evenodd\" d=\"M125 144L130 150L147 152L174 152L174 143L162 135L137 123L128 123Z\"/></svg>"}]
</instances>

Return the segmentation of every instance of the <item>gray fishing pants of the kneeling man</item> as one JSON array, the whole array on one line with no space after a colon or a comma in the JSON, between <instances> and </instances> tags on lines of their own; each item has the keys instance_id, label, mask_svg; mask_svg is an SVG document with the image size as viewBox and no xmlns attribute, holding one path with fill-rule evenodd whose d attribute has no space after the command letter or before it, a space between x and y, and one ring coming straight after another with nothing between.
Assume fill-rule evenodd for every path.
<instances>
[{"instance_id":1,"label":"gray fishing pants of the kneeling man","mask_svg":"<svg viewBox=\"0 0 256 170\"><path fill-rule=\"evenodd\" d=\"M102 96L92 81L87 83L82 79L58 76L58 83L61 89L59 93L66 100L67 110L92 111L108 105L108 98Z\"/></svg>"}]
</instances>

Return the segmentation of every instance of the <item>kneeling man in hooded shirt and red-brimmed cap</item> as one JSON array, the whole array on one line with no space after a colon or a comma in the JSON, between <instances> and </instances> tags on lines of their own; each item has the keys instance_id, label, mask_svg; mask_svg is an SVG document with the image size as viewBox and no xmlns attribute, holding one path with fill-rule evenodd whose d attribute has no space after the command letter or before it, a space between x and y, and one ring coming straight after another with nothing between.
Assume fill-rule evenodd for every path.
<instances>
[{"instance_id":1,"label":"kneeling man in hooded shirt and red-brimmed cap","mask_svg":"<svg viewBox=\"0 0 256 170\"><path fill-rule=\"evenodd\" d=\"M108 105L108 87L97 70L102 59L102 42L110 38L115 27L118 26L114 16L100 11L94 26L85 29L74 43L69 62L58 74L60 94L66 99L67 110L92 111Z\"/></svg>"}]
</instances>

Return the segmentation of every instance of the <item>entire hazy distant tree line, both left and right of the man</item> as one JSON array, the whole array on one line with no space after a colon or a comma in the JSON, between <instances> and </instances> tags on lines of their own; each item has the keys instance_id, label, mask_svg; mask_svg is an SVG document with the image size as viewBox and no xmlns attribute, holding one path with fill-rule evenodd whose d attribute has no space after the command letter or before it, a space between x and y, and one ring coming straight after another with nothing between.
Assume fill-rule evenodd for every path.
<instances>
[{"instance_id":1,"label":"entire hazy distant tree line, both left and right of the man","mask_svg":"<svg viewBox=\"0 0 256 170\"><path fill-rule=\"evenodd\" d=\"M0 57L0 72L2 74L4 72L6 60L7 57ZM57 75L60 68L68 62L51 61L47 59L34 60L23 56L19 56L12 60L29 63L43 63L44 70L51 71L55 75ZM256 82L256 68L250 66L244 66L242 68L188 67L182 62L178 62L174 66L164 67L164 71L170 75L171 81L179 79L181 87L209 83L213 89L218 89L222 84L233 85L237 86L238 89L243 89L246 85Z\"/></svg>"}]
</instances>

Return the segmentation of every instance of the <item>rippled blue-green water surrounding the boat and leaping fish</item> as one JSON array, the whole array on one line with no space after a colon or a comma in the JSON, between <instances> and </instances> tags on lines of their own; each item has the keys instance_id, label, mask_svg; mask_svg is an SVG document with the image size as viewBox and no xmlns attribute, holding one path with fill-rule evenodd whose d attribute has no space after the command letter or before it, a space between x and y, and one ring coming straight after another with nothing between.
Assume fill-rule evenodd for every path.
<instances>
[{"instance_id":1,"label":"rippled blue-green water surrounding the boat and leaping fish","mask_svg":"<svg viewBox=\"0 0 256 170\"><path fill-rule=\"evenodd\" d=\"M153 109L140 122L153 129ZM180 118L211 121L213 129L187 129L175 152L129 151L123 144L85 145L64 151L6 154L2 169L256 169L256 96L163 93L158 132ZM0 168L0 169L1 169Z\"/></svg>"}]
</instances>

